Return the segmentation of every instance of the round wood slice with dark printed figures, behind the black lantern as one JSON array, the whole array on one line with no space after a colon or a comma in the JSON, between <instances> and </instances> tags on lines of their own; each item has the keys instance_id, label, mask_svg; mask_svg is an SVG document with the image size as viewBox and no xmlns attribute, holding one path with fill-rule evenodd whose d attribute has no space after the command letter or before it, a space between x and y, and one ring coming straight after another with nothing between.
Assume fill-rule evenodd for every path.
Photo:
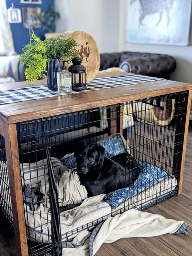
<instances>
[{"instance_id":1,"label":"round wood slice with dark printed figures, behind the black lantern","mask_svg":"<svg viewBox=\"0 0 192 256\"><path fill-rule=\"evenodd\" d=\"M87 82L90 82L97 76L100 69L100 55L96 41L90 34L79 30L65 33L46 33L45 37L53 38L61 34L63 39L72 38L79 44L76 48L79 50L82 64L86 68ZM66 63L67 68L70 65L72 65L72 62L69 64Z\"/></svg>"}]
</instances>

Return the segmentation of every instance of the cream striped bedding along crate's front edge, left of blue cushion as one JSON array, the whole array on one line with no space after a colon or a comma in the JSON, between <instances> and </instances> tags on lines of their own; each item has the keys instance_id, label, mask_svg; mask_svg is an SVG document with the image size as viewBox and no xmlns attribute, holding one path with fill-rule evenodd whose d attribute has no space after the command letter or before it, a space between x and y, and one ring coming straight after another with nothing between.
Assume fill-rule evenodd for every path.
<instances>
[{"instance_id":1,"label":"cream striped bedding along crate's front edge, left of blue cushion","mask_svg":"<svg viewBox=\"0 0 192 256\"><path fill-rule=\"evenodd\" d=\"M111 215L111 207L107 203L101 202L105 195L87 198L80 206L60 213L62 239L66 237L72 239L82 230L82 227L84 229L92 227L92 225L100 223L103 216ZM34 212L29 209L28 212L25 211L30 227L28 235L34 242L49 243L51 240L51 213L43 212L43 207L39 207Z\"/></svg>"}]
</instances>

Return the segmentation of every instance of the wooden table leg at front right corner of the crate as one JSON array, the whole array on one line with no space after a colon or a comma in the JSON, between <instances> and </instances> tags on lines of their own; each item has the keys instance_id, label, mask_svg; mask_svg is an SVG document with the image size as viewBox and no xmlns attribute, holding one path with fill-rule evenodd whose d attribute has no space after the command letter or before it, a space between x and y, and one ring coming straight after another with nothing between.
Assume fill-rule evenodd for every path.
<instances>
[{"instance_id":1,"label":"wooden table leg at front right corner of the crate","mask_svg":"<svg viewBox=\"0 0 192 256\"><path fill-rule=\"evenodd\" d=\"M187 110L186 110L187 113L186 113L186 120L185 120L185 132L184 132L184 139L183 139L183 150L182 150L180 179L179 179L179 192L178 192L179 195L182 192L183 171L184 171L184 165L185 165L185 154L186 154L186 146L187 146L187 136L188 136L190 109L191 109L191 99L192 99L192 90L190 90L189 94L188 94L188 103L187 103Z\"/></svg>"}]
</instances>

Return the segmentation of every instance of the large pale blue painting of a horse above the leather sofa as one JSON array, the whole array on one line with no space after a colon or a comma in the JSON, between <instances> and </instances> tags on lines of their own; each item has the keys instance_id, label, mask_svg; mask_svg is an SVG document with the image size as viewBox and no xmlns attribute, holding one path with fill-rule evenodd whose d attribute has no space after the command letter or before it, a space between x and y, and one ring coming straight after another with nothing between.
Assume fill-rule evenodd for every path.
<instances>
[{"instance_id":1,"label":"large pale blue painting of a horse above the leather sofa","mask_svg":"<svg viewBox=\"0 0 192 256\"><path fill-rule=\"evenodd\" d=\"M189 45L191 0L127 0L126 41Z\"/></svg>"}]
</instances>

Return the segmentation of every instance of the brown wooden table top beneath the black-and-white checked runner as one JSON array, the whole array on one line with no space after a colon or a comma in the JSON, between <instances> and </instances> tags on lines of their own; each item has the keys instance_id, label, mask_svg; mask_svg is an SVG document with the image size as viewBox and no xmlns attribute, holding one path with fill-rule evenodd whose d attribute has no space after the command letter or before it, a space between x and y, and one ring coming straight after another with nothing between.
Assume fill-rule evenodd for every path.
<instances>
[{"instance_id":1,"label":"brown wooden table top beneath the black-and-white checked runner","mask_svg":"<svg viewBox=\"0 0 192 256\"><path fill-rule=\"evenodd\" d=\"M125 74L127 73L118 71L100 73L97 78ZM46 84L46 80L39 80L33 86L44 84ZM10 90L27 86L30 86L27 82L1 84L0 90L1 88ZM142 84L131 84L91 92L21 101L0 105L0 120L7 124L14 124L36 118L54 116L187 90L192 90L192 84L161 79Z\"/></svg>"}]
</instances>

